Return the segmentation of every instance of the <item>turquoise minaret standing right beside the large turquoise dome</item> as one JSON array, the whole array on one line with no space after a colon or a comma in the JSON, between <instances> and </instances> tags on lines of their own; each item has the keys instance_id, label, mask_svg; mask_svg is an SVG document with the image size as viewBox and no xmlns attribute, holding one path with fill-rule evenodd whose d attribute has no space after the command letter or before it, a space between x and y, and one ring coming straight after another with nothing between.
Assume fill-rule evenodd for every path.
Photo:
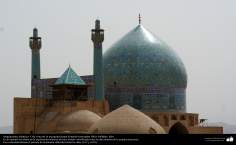
<instances>
[{"instance_id":1,"label":"turquoise minaret standing right beside the large turquoise dome","mask_svg":"<svg viewBox=\"0 0 236 145\"><path fill-rule=\"evenodd\" d=\"M102 42L104 40L104 30L100 29L100 21L95 21L95 29L92 29L91 39L94 45L93 74L95 80L95 99L104 100L104 77L103 77L103 58Z\"/></svg>"}]
</instances>

